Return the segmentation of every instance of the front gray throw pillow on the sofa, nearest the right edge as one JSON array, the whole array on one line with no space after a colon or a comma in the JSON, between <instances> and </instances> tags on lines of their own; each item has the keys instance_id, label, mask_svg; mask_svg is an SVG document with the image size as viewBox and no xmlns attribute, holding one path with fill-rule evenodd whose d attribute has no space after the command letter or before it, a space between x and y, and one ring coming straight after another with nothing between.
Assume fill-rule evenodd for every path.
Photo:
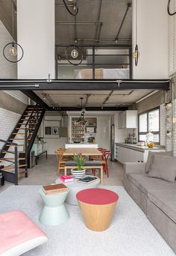
<instances>
[{"instance_id":1,"label":"front gray throw pillow on the sofa, nearest the right edge","mask_svg":"<svg viewBox=\"0 0 176 256\"><path fill-rule=\"evenodd\" d=\"M153 155L148 177L157 177L175 183L176 157Z\"/></svg>"}]
</instances>

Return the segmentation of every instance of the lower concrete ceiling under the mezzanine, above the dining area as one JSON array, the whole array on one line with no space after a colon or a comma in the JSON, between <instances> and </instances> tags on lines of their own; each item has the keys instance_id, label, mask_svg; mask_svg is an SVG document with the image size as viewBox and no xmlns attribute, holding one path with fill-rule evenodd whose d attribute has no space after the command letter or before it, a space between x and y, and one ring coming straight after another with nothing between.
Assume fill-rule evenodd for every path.
<instances>
[{"instance_id":1,"label":"lower concrete ceiling under the mezzanine, above the dining area","mask_svg":"<svg viewBox=\"0 0 176 256\"><path fill-rule=\"evenodd\" d=\"M80 107L83 97L83 106L130 106L136 103L151 90L139 91L35 91L48 106Z\"/></svg>"}]
</instances>

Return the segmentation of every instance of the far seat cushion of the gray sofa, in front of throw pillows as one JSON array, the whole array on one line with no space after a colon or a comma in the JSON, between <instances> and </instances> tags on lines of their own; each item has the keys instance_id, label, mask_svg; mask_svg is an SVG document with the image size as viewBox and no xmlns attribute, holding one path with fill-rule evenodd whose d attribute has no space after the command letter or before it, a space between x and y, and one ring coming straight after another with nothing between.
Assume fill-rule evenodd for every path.
<instances>
[{"instance_id":1,"label":"far seat cushion of the gray sofa, in front of throw pillows","mask_svg":"<svg viewBox=\"0 0 176 256\"><path fill-rule=\"evenodd\" d=\"M153 177L148 177L148 174L126 174L128 180L131 181L145 195L148 192L157 189L165 189L167 187L176 188L176 183L170 183L166 180L160 180Z\"/></svg>"}]
</instances>

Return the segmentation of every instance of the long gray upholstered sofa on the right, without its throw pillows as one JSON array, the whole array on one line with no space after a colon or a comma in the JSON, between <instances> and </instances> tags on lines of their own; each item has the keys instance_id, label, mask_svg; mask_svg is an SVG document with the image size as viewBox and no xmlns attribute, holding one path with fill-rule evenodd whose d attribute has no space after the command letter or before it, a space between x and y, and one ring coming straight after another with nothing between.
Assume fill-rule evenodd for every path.
<instances>
[{"instance_id":1,"label":"long gray upholstered sofa on the right, without its throw pillows","mask_svg":"<svg viewBox=\"0 0 176 256\"><path fill-rule=\"evenodd\" d=\"M176 183L148 177L143 162L128 162L124 186L176 253Z\"/></svg>"}]
</instances>

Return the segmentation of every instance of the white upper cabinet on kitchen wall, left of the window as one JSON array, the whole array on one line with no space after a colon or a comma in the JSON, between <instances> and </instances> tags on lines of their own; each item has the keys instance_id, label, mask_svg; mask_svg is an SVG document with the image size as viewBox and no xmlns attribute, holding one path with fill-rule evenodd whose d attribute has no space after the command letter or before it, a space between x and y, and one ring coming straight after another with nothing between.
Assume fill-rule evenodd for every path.
<instances>
[{"instance_id":1,"label":"white upper cabinet on kitchen wall, left of the window","mask_svg":"<svg viewBox=\"0 0 176 256\"><path fill-rule=\"evenodd\" d=\"M137 128L137 110L126 110L118 117L118 128Z\"/></svg>"}]
</instances>

